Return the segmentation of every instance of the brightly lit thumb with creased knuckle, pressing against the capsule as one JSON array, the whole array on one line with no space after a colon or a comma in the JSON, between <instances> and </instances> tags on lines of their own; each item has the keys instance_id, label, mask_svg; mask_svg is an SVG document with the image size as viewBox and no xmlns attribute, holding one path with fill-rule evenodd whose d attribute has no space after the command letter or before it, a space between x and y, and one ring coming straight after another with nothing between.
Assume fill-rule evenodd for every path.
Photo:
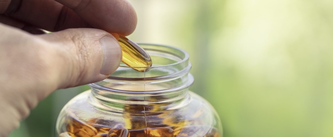
<instances>
[{"instance_id":1,"label":"brightly lit thumb with creased knuckle, pressing against the capsule","mask_svg":"<svg viewBox=\"0 0 333 137\"><path fill-rule=\"evenodd\" d=\"M58 89L101 81L120 64L121 48L110 33L93 28L67 29L40 35L56 51Z\"/></svg>"}]
</instances>

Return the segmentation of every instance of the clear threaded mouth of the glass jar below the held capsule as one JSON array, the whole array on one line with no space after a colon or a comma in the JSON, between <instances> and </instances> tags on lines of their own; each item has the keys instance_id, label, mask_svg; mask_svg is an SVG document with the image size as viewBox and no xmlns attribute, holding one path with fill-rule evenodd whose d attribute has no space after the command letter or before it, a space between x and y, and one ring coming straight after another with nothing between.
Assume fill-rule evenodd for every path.
<instances>
[{"instance_id":1,"label":"clear threaded mouth of the glass jar below the held capsule","mask_svg":"<svg viewBox=\"0 0 333 137\"><path fill-rule=\"evenodd\" d=\"M107 79L89 84L92 90L149 96L186 91L193 83L186 51L172 46L139 44L153 62L149 71L140 72L122 64Z\"/></svg>"}]
</instances>

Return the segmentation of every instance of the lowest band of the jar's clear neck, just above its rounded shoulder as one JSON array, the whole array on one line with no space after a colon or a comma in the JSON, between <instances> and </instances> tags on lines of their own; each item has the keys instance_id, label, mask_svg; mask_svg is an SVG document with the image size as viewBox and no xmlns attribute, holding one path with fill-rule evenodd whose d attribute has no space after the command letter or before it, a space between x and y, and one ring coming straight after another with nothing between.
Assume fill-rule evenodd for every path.
<instances>
[{"instance_id":1,"label":"lowest band of the jar's clear neck, just above its rounded shoulder","mask_svg":"<svg viewBox=\"0 0 333 137\"><path fill-rule=\"evenodd\" d=\"M100 110L129 114L159 113L161 110L178 109L186 106L189 100L188 89L173 91L169 94L133 96L92 88L88 97L88 102Z\"/></svg>"}]
</instances>

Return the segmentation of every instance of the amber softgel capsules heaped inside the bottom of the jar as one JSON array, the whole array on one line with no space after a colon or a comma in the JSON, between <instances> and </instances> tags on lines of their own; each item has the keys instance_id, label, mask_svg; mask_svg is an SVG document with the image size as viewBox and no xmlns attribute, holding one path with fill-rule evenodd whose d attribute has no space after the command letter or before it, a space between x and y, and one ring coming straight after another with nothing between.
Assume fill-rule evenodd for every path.
<instances>
[{"instance_id":1,"label":"amber softgel capsules heaped inside the bottom of the jar","mask_svg":"<svg viewBox=\"0 0 333 137\"><path fill-rule=\"evenodd\" d=\"M106 128L93 127L72 117L67 120L67 132L61 133L59 137L221 137L218 130L210 126L169 126L128 130L122 124Z\"/></svg>"}]
</instances>

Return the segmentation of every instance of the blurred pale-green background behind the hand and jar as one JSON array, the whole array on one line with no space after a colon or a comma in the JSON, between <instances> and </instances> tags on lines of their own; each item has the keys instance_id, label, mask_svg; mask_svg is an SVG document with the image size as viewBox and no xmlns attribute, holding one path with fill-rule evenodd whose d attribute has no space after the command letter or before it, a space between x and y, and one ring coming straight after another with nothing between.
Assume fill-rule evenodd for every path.
<instances>
[{"instance_id":1,"label":"blurred pale-green background behind the hand and jar","mask_svg":"<svg viewBox=\"0 0 333 137\"><path fill-rule=\"evenodd\" d=\"M135 42L190 54L190 88L224 137L333 137L333 0L130 0ZM53 137L81 86L52 93L10 137Z\"/></svg>"}]
</instances>

